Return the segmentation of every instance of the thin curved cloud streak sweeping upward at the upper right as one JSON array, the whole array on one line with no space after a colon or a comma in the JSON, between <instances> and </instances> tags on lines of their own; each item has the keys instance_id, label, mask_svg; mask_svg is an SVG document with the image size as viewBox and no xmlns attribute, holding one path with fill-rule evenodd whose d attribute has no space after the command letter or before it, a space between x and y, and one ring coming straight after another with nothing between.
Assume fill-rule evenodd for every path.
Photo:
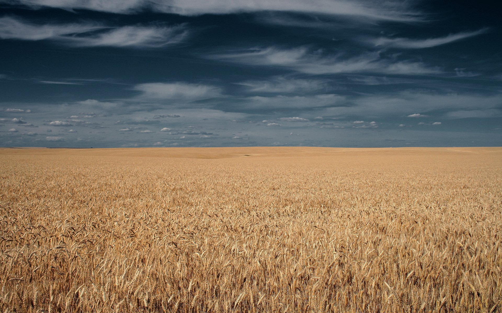
<instances>
[{"instance_id":1,"label":"thin curved cloud streak sweeping upward at the upper right","mask_svg":"<svg viewBox=\"0 0 502 313\"><path fill-rule=\"evenodd\" d=\"M462 39L466 39L469 37L477 36L480 34L484 34L488 31L488 28L483 28L474 32L462 32L457 34L450 34L445 37L440 38L429 38L423 40L417 39L408 39L408 38L376 38L368 40L369 43L374 46L385 46L391 48L402 48L402 49L423 49L423 48L432 48L436 46L441 46L445 44L449 44L455 41L459 41Z\"/></svg>"}]
</instances>

